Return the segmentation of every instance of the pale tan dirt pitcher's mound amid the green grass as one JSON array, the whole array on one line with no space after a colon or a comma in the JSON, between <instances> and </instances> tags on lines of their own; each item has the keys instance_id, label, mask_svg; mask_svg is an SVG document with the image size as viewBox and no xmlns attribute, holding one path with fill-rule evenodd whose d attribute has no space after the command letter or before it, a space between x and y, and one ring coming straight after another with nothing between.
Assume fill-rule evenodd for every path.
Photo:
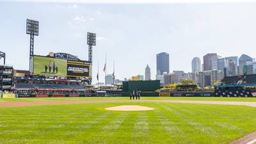
<instances>
[{"instance_id":1,"label":"pale tan dirt pitcher's mound amid the green grass","mask_svg":"<svg viewBox=\"0 0 256 144\"><path fill-rule=\"evenodd\" d=\"M106 108L110 111L150 111L154 108L148 108L145 106L132 106L132 105L124 105L124 106L115 106L111 108Z\"/></svg>"}]
</instances>

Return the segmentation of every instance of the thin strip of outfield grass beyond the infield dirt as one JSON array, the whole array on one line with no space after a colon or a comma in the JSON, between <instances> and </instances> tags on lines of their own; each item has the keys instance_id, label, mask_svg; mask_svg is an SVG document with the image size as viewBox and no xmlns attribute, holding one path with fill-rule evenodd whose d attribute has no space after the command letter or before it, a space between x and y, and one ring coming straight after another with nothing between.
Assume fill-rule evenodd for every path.
<instances>
[{"instance_id":1,"label":"thin strip of outfield grass beyond the infield dirt","mask_svg":"<svg viewBox=\"0 0 256 144\"><path fill-rule=\"evenodd\" d=\"M0 102L27 102L27 101L57 101L57 100L128 100L129 97L32 97L8 98ZM141 97L143 100L214 100L214 101L242 101L256 102L256 97Z\"/></svg>"}]
</instances>

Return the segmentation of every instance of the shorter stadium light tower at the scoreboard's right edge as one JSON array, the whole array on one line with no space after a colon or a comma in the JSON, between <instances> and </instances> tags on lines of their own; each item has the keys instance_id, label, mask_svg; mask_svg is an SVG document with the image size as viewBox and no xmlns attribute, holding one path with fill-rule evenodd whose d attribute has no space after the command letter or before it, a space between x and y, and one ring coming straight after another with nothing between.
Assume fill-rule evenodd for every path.
<instances>
[{"instance_id":1,"label":"shorter stadium light tower at the scoreboard's right edge","mask_svg":"<svg viewBox=\"0 0 256 144\"><path fill-rule=\"evenodd\" d=\"M90 69L92 72L92 45L96 45L96 34L87 33L87 44L88 44L88 61L90 61ZM92 83L92 77L88 79L88 84Z\"/></svg>"}]
</instances>

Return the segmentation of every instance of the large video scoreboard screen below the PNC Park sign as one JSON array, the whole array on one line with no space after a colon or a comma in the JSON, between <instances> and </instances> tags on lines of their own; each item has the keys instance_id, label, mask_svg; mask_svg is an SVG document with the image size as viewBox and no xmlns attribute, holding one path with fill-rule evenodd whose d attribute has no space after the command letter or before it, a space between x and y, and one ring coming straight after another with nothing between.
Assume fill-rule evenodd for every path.
<instances>
[{"instance_id":1,"label":"large video scoreboard screen below the PNC Park sign","mask_svg":"<svg viewBox=\"0 0 256 144\"><path fill-rule=\"evenodd\" d=\"M33 74L41 76L89 77L90 64L47 56L34 56Z\"/></svg>"}]
</instances>

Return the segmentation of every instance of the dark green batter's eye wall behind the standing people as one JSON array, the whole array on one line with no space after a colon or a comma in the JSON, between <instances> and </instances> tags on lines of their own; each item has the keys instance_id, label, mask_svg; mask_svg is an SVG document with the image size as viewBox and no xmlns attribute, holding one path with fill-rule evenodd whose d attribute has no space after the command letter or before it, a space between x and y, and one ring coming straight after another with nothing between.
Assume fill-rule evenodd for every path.
<instances>
[{"instance_id":1,"label":"dark green batter's eye wall behind the standing people","mask_svg":"<svg viewBox=\"0 0 256 144\"><path fill-rule=\"evenodd\" d=\"M154 92L160 89L160 80L155 81L123 81L123 92Z\"/></svg>"}]
</instances>

